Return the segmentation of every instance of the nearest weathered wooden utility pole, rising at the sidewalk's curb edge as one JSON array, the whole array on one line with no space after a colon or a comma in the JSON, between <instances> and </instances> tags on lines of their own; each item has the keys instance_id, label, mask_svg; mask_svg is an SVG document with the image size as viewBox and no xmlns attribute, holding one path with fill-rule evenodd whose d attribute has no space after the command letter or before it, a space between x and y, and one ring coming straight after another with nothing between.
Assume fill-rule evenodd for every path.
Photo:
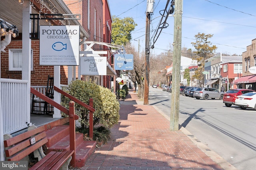
<instances>
[{"instance_id":1,"label":"nearest weathered wooden utility pole, rising at the sidewalk's curb edge","mask_svg":"<svg viewBox=\"0 0 256 170\"><path fill-rule=\"evenodd\" d=\"M171 97L171 115L170 115L171 131L179 130L182 2L183 0L175 0L175 9L174 9L174 42L173 42L174 48L173 48L172 97Z\"/></svg>"}]
</instances>

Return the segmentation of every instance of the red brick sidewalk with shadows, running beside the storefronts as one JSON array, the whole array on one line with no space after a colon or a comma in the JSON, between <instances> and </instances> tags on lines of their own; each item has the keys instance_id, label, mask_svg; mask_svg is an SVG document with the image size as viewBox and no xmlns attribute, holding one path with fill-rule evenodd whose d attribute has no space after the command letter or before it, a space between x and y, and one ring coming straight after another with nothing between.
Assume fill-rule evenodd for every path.
<instances>
[{"instance_id":1,"label":"red brick sidewalk with shadows, running beside the storefronts","mask_svg":"<svg viewBox=\"0 0 256 170\"><path fill-rule=\"evenodd\" d=\"M153 106L134 92L120 100L112 140L95 150L81 170L223 170Z\"/></svg>"}]
</instances>

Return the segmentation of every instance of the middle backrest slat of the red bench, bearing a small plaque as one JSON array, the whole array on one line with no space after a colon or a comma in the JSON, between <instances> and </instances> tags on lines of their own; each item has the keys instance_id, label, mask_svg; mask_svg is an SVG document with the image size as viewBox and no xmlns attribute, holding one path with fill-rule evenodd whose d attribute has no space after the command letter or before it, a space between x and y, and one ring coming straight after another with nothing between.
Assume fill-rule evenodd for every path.
<instances>
[{"instance_id":1,"label":"middle backrest slat of the red bench, bearing a small plaque","mask_svg":"<svg viewBox=\"0 0 256 170\"><path fill-rule=\"evenodd\" d=\"M7 157L12 156L12 155L16 154L17 152L20 152L20 150L31 146L30 139L32 139L32 138L35 138L36 143L37 143L37 142L40 141L41 139L46 138L46 133L45 133L45 131L44 131L44 132L39 133L38 135L36 135L36 136L34 136L34 137L30 137L30 138L26 139L26 141L23 141L23 142L21 142L21 143L18 143L18 144L16 144L16 145L14 145L13 147L11 147L11 148L9 148L9 149L6 149L6 150L5 150L6 156L7 156ZM47 143L47 141L46 141L45 143ZM44 143L44 144L45 144L45 143ZM44 145L44 144L43 144L43 145ZM37 148L34 147L34 149L36 150Z\"/></svg>"}]
</instances>

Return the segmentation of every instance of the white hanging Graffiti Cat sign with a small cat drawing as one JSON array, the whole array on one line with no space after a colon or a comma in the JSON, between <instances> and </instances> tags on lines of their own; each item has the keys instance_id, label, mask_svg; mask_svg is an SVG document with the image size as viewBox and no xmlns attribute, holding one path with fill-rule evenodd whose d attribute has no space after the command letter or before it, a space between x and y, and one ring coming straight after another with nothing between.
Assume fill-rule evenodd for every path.
<instances>
[{"instance_id":1,"label":"white hanging Graffiti Cat sign with a small cat drawing","mask_svg":"<svg viewBox=\"0 0 256 170\"><path fill-rule=\"evenodd\" d=\"M80 74L107 75L107 57L80 57Z\"/></svg>"}]
</instances>

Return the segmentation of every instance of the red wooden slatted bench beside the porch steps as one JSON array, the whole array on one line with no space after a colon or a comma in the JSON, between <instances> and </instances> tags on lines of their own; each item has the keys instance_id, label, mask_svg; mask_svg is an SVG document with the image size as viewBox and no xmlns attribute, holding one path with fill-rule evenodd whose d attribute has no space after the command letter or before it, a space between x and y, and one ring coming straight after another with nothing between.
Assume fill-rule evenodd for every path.
<instances>
[{"instance_id":1,"label":"red wooden slatted bench beside the porch steps","mask_svg":"<svg viewBox=\"0 0 256 170\"><path fill-rule=\"evenodd\" d=\"M41 148L46 144L48 139L46 137L44 126L37 127L15 137L11 137L4 141L4 148L7 160L18 161L28 156L30 153ZM36 164L34 164L30 170L59 170L66 162L70 162L70 156L74 153L74 150L68 150L63 152L50 152ZM40 155L42 155L41 153ZM43 154L44 155L44 154ZM68 160L68 161L67 161Z\"/></svg>"}]
</instances>

